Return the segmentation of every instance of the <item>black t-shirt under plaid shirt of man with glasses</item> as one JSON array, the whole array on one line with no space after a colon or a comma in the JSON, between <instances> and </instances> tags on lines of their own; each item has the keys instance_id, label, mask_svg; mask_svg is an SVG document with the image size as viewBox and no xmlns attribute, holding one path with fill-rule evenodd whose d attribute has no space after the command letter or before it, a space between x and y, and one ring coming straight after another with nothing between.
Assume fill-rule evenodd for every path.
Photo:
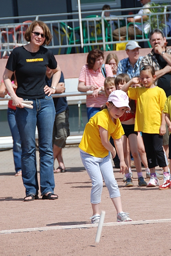
<instances>
[{"instance_id":1,"label":"black t-shirt under plaid shirt of man with glasses","mask_svg":"<svg viewBox=\"0 0 171 256\"><path fill-rule=\"evenodd\" d=\"M154 55L156 56L160 69L164 69L164 67L167 65L167 61L165 61L160 54ZM157 85L158 87L164 89L166 96L169 97L171 95L171 73L167 73L158 78Z\"/></svg>"}]
</instances>

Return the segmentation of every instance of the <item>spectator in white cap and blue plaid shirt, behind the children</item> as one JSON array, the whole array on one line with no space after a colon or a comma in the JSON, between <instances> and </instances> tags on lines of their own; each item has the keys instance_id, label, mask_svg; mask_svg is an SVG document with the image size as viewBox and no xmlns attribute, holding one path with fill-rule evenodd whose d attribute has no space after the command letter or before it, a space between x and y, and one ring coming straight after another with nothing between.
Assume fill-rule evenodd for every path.
<instances>
[{"instance_id":1,"label":"spectator in white cap and blue plaid shirt, behind the children","mask_svg":"<svg viewBox=\"0 0 171 256\"><path fill-rule=\"evenodd\" d=\"M140 64L143 56L139 56L139 48L141 47L135 41L127 43L125 50L128 58L121 59L118 63L117 75L126 73L130 79L134 76L140 76Z\"/></svg>"}]
</instances>

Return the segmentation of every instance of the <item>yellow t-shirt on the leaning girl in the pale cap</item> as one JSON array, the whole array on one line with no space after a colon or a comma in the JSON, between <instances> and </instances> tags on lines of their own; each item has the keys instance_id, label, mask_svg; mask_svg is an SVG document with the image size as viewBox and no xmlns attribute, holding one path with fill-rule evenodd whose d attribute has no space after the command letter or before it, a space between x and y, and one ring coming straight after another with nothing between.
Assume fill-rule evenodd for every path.
<instances>
[{"instance_id":1,"label":"yellow t-shirt on the leaning girl in the pale cap","mask_svg":"<svg viewBox=\"0 0 171 256\"><path fill-rule=\"evenodd\" d=\"M99 126L108 131L108 140L110 135L113 139L120 139L124 131L119 119L116 119L116 124L114 124L107 109L97 112L90 118L86 124L79 148L92 156L104 158L108 155L108 150L101 143Z\"/></svg>"}]
</instances>

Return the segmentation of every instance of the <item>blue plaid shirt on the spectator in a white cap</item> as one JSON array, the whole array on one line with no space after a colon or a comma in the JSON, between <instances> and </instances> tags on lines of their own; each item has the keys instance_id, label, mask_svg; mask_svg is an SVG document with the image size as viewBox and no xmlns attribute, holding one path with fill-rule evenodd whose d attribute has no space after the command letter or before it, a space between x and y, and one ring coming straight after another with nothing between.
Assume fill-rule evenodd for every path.
<instances>
[{"instance_id":1,"label":"blue plaid shirt on the spectator in a white cap","mask_svg":"<svg viewBox=\"0 0 171 256\"><path fill-rule=\"evenodd\" d=\"M129 58L121 59L118 63L117 75L121 73L126 73L129 75L130 78L135 76L140 76L140 64L142 61L143 56L138 58L138 61L135 63L134 67L131 66L129 62Z\"/></svg>"}]
</instances>

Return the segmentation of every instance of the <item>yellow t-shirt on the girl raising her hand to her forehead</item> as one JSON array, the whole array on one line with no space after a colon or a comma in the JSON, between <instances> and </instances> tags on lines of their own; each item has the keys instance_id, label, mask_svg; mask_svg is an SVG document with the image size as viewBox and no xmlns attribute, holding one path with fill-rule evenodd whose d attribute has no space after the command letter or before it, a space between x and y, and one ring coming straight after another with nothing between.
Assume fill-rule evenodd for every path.
<instances>
[{"instance_id":1,"label":"yellow t-shirt on the girl raising her hand to her forehead","mask_svg":"<svg viewBox=\"0 0 171 256\"><path fill-rule=\"evenodd\" d=\"M137 100L135 131L148 134L159 134L161 115L166 101L165 91L160 87L130 87L128 96Z\"/></svg>"}]
</instances>

